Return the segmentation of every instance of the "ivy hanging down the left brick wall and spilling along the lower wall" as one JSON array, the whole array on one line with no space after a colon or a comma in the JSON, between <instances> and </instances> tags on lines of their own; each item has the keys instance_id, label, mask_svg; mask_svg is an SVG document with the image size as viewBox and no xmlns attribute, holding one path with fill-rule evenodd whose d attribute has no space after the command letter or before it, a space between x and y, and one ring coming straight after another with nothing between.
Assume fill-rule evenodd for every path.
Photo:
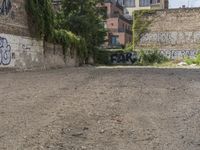
<instances>
[{"instance_id":1,"label":"ivy hanging down the left brick wall and spilling along the lower wall","mask_svg":"<svg viewBox=\"0 0 200 150\"><path fill-rule=\"evenodd\" d=\"M69 48L76 49L80 58L87 57L86 42L82 37L65 29L56 29L56 17L51 0L26 0L25 8L32 36L44 42L61 44L64 57Z\"/></svg>"}]
</instances>

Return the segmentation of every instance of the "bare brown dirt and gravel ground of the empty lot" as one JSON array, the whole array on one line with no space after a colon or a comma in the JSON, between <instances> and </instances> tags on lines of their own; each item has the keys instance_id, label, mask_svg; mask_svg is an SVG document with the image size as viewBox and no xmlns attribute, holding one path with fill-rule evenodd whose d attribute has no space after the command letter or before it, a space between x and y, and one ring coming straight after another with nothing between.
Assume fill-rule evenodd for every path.
<instances>
[{"instance_id":1,"label":"bare brown dirt and gravel ground of the empty lot","mask_svg":"<svg viewBox=\"0 0 200 150\"><path fill-rule=\"evenodd\" d=\"M0 73L0 150L200 150L200 70Z\"/></svg>"}]
</instances>

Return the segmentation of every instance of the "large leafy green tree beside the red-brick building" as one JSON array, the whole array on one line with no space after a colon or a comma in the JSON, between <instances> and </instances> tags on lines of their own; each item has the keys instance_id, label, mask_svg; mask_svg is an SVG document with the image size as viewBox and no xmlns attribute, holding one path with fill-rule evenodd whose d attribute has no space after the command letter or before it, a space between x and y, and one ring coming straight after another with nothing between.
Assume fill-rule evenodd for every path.
<instances>
[{"instance_id":1,"label":"large leafy green tree beside the red-brick building","mask_svg":"<svg viewBox=\"0 0 200 150\"><path fill-rule=\"evenodd\" d=\"M63 0L62 12L58 15L62 21L57 25L81 36L86 41L90 54L99 47L105 38L104 12L97 7L102 0ZM61 17L62 16L62 17Z\"/></svg>"}]
</instances>

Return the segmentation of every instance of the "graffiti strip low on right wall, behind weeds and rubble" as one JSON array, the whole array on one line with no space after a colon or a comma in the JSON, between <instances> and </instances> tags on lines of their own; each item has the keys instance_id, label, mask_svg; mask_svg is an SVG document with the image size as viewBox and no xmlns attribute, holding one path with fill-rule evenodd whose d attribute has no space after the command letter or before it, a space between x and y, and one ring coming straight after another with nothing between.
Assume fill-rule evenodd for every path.
<instances>
[{"instance_id":1,"label":"graffiti strip low on right wall, behind weeds and rubble","mask_svg":"<svg viewBox=\"0 0 200 150\"><path fill-rule=\"evenodd\" d=\"M199 50L161 50L160 53L169 59L195 58Z\"/></svg>"}]
</instances>

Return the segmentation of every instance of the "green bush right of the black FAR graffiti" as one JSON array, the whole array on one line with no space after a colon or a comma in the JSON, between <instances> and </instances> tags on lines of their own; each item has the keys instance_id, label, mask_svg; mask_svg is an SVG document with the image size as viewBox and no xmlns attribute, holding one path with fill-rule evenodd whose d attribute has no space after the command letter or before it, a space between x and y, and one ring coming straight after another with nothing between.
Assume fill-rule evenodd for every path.
<instances>
[{"instance_id":1,"label":"green bush right of the black FAR graffiti","mask_svg":"<svg viewBox=\"0 0 200 150\"><path fill-rule=\"evenodd\" d=\"M157 50L151 50L151 51L141 50L139 52L140 65L152 65L155 63L159 64L167 60L168 59Z\"/></svg>"}]
</instances>

